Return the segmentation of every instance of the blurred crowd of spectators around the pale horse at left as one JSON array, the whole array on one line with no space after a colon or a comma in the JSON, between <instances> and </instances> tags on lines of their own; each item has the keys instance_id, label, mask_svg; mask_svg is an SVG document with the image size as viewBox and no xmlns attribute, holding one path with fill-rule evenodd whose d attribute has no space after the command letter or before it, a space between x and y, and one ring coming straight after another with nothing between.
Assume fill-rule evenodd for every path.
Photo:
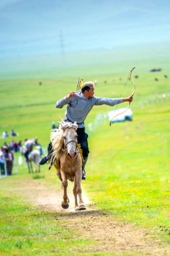
<instances>
[{"instance_id":1,"label":"blurred crowd of spectators around the pale horse at left","mask_svg":"<svg viewBox=\"0 0 170 256\"><path fill-rule=\"evenodd\" d=\"M7 175L12 174L14 154L21 152L21 148L26 148L26 153L24 156L28 158L28 154L34 149L38 148L40 150L40 155L44 154L42 146L38 142L38 139L25 139L24 143L22 140L16 142L12 140L9 144L6 142L3 143L3 146L0 148L0 170L1 177L6 177Z\"/></svg>"}]
</instances>

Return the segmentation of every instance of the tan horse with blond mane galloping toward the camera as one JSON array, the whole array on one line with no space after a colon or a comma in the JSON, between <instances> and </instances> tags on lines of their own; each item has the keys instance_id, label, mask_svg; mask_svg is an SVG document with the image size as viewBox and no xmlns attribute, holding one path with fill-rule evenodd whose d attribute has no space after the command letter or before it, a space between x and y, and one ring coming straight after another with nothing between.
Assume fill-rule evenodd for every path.
<instances>
[{"instance_id":1,"label":"tan horse with blond mane galloping toward the camera","mask_svg":"<svg viewBox=\"0 0 170 256\"><path fill-rule=\"evenodd\" d=\"M51 163L56 168L56 174L61 181L63 189L62 208L69 207L69 198L67 196L68 179L74 181L73 194L75 196L75 211L85 210L81 196L81 178L83 157L81 148L77 143L77 123L61 122L58 129L51 135L52 153ZM79 203L77 201L79 195Z\"/></svg>"}]
</instances>

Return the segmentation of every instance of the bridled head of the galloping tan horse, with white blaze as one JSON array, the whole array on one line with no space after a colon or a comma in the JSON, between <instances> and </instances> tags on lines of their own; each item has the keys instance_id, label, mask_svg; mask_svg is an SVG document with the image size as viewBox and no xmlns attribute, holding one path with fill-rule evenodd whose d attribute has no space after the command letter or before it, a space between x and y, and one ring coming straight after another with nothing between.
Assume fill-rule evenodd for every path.
<instances>
[{"instance_id":1,"label":"bridled head of the galloping tan horse, with white blaze","mask_svg":"<svg viewBox=\"0 0 170 256\"><path fill-rule=\"evenodd\" d=\"M75 158L77 154L77 132L75 127L68 127L63 133L65 151L69 158Z\"/></svg>"}]
</instances>

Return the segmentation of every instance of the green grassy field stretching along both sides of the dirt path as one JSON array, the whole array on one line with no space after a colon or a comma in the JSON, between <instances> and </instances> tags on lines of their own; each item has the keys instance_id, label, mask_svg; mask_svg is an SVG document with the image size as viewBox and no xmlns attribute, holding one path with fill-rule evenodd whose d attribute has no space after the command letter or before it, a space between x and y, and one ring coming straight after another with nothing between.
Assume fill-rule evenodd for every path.
<instances>
[{"instance_id":1,"label":"green grassy field stretching along both sides of the dirt path","mask_svg":"<svg viewBox=\"0 0 170 256\"><path fill-rule=\"evenodd\" d=\"M136 94L131 104L133 121L114 123L110 127L105 117L111 110L109 106L95 106L87 117L90 155L83 187L103 212L137 228L148 228L155 238L169 243L170 90L169 78L165 79L164 75L170 77L170 69L166 58L162 61L166 72L150 73L148 67L144 69L143 60L136 63L134 74L138 79L134 79ZM128 65L124 63L122 69L126 66L130 70L131 63ZM85 73L83 67L78 69L85 80L97 79L96 96L119 98L132 93L130 82L124 87L128 72L121 71L120 66L117 69L116 65L106 66L105 72L102 66L97 67L94 70L86 67ZM90 76L87 76L88 71ZM54 104L70 90L75 90L78 78L69 74L53 74L53 77L1 80L0 134L15 129L19 133L17 141L37 137L46 150L52 121L60 121L65 113L65 108L56 110ZM39 86L40 81L42 86ZM89 129L89 124L93 129ZM1 139L1 146L4 141L9 143L11 137ZM14 169L14 174L0 179L0 254L40 255L41 251L41 255L47 255L51 250L52 255L55 247L54 255L59 250L60 255L67 255L69 249L73 253L75 247L81 250L83 245L94 243L77 238L76 230L68 230L64 223L58 222L54 212L40 212L26 203L15 188L17 182L30 181L33 177L21 166L17 173ZM43 166L43 175L45 185L56 185L54 169L49 174Z\"/></svg>"}]
</instances>

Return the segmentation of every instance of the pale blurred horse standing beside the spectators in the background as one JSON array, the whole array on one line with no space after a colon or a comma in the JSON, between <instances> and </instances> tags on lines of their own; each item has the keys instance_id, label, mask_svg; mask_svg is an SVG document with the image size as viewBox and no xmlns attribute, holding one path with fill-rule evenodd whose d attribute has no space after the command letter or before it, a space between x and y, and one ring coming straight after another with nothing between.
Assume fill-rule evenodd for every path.
<instances>
[{"instance_id":1,"label":"pale blurred horse standing beside the spectators in the background","mask_svg":"<svg viewBox=\"0 0 170 256\"><path fill-rule=\"evenodd\" d=\"M21 154L24 155L26 153L26 150L27 150L26 147L22 146L22 148L20 149ZM25 157L25 159L26 159L26 157ZM28 154L28 160L26 159L26 163L27 163L27 166L28 166L28 172L29 173L34 172L33 167L32 167L32 162L35 164L36 172L40 172L40 165L39 165L40 151L39 150L32 150L30 152L30 154Z\"/></svg>"}]
</instances>

